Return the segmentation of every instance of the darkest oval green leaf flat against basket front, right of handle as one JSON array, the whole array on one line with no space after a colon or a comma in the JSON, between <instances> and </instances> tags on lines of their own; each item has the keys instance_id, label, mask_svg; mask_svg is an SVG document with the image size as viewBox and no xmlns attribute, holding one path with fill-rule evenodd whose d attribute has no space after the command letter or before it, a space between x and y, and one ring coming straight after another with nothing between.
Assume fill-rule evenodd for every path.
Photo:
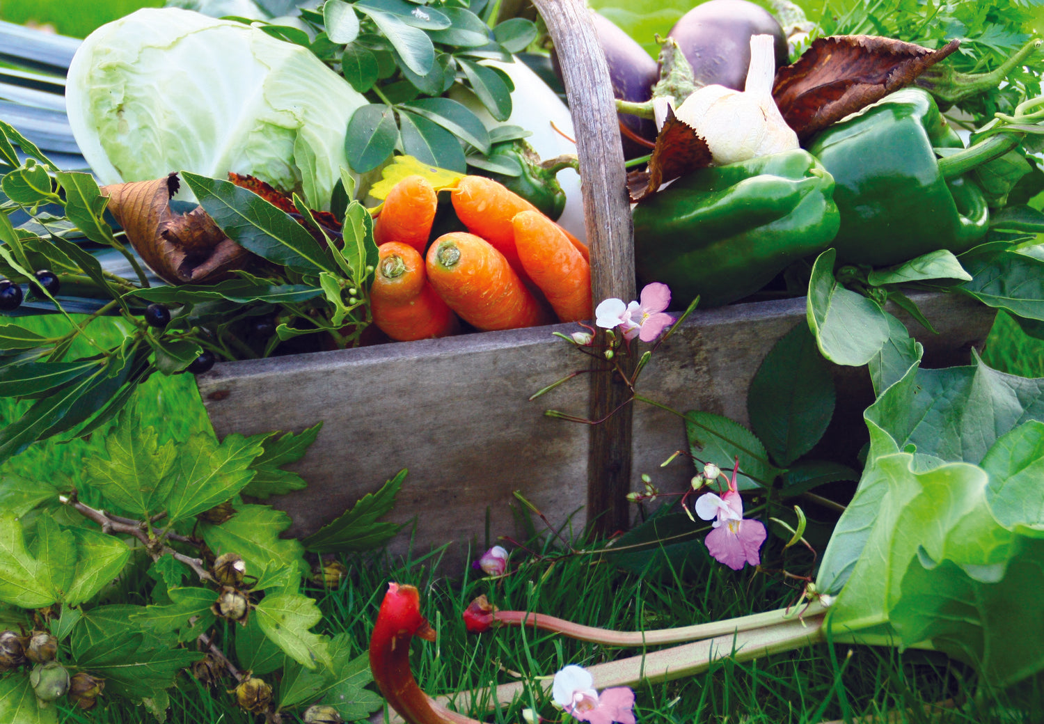
<instances>
[{"instance_id":1,"label":"darkest oval green leaf flat against basket front, right of handle","mask_svg":"<svg viewBox=\"0 0 1044 724\"><path fill-rule=\"evenodd\" d=\"M761 361L746 407L751 427L782 466L812 449L830 424L836 393L808 325L798 324Z\"/></svg>"}]
</instances>

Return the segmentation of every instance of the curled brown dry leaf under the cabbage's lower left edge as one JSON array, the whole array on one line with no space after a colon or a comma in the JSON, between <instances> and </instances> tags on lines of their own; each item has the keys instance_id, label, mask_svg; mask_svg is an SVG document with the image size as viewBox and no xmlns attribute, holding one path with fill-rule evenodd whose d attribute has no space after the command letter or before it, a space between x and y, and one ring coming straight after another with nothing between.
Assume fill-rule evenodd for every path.
<instances>
[{"instance_id":1,"label":"curled brown dry leaf under the cabbage's lower left edge","mask_svg":"<svg viewBox=\"0 0 1044 724\"><path fill-rule=\"evenodd\" d=\"M177 174L171 173L101 187L108 209L157 276L171 284L215 282L258 260L226 236L203 207L185 214L172 210L170 198L179 185Z\"/></svg>"}]
</instances>

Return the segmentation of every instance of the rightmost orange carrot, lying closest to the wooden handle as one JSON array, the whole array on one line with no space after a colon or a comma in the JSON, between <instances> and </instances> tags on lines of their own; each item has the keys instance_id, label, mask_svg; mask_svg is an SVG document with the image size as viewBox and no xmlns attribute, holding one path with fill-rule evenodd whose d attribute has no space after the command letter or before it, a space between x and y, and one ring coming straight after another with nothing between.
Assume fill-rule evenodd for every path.
<instances>
[{"instance_id":1,"label":"rightmost orange carrot, lying closest to the wooden handle","mask_svg":"<svg viewBox=\"0 0 1044 724\"><path fill-rule=\"evenodd\" d=\"M561 322L591 319L591 264L559 226L539 211L512 219L515 247L529 278L551 303Z\"/></svg>"}]
</instances>

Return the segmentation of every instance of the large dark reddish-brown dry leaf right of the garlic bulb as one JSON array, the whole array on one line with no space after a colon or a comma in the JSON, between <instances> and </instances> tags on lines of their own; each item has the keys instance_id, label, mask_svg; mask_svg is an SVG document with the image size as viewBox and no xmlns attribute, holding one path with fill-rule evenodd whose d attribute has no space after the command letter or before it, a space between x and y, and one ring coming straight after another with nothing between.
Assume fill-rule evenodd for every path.
<instances>
[{"instance_id":1,"label":"large dark reddish-brown dry leaf right of the garlic bulb","mask_svg":"<svg viewBox=\"0 0 1044 724\"><path fill-rule=\"evenodd\" d=\"M952 40L931 50L878 36L817 38L797 63L779 69L773 97L787 124L805 139L910 85L959 43Z\"/></svg>"}]
</instances>

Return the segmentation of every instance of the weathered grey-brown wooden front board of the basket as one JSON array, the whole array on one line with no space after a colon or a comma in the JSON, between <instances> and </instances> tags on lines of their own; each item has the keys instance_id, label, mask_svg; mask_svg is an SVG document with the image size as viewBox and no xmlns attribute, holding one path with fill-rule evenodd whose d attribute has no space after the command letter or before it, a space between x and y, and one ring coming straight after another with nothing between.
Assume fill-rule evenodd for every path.
<instances>
[{"instance_id":1,"label":"weathered grey-brown wooden front board of the basket","mask_svg":"<svg viewBox=\"0 0 1044 724\"><path fill-rule=\"evenodd\" d=\"M994 311L956 295L914 299L940 331L930 334L903 318L925 346L924 366L968 364ZM804 323L804 298L696 311L652 357L638 390L680 412L703 410L746 423L746 390L761 359ZM588 428L543 413L555 408L584 417L588 383L580 376L527 401L585 368L583 354L551 336L575 329L555 325L226 363L197 382L222 437L301 430L324 421L315 444L292 466L308 488L271 499L293 517L292 534L329 522L405 467L409 474L392 518L416 524L414 550L461 541L481 547L497 536L523 534L511 511L515 490L553 524L565 526L567 535L587 520ZM861 412L873 399L865 368L833 372L835 435L861 444ZM694 473L691 464L679 459L660 467L687 447L679 418L638 405L634 419L627 490L642 488L642 473L664 491L683 490ZM392 550L402 552L409 543L402 535ZM452 546L447 563L458 565L465 553Z\"/></svg>"}]
</instances>

